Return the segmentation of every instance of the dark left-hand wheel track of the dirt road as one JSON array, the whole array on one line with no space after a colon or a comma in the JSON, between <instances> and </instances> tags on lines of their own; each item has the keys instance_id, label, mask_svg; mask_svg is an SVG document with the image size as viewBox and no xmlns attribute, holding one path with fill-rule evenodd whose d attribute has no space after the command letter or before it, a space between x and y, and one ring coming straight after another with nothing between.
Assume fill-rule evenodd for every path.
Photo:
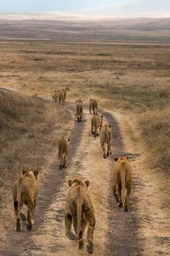
<instances>
[{"instance_id":1,"label":"dark left-hand wheel track of the dirt road","mask_svg":"<svg viewBox=\"0 0 170 256\"><path fill-rule=\"evenodd\" d=\"M69 111L74 112L74 108L72 104L68 104ZM68 109L67 109L68 110ZM71 134L71 141L75 141L71 144L70 154L68 161L74 157L76 153L76 148L81 141L81 135L84 130L84 122L77 126L74 124L73 132ZM22 255L28 251L27 247L31 247L32 249L36 249L37 245L32 242L32 236L35 235L39 227L42 225L45 217L45 213L47 212L48 207L50 206L51 202L55 195L58 195L58 191L60 191L63 180L65 179L67 174L67 169L60 170L58 168L58 157L56 155L56 161L53 163L52 169L50 174L45 174L45 178L40 185L40 189L38 192L37 197L37 206L35 208L35 224L33 225L33 229L31 232L25 230L25 226L22 223L22 227L24 230L22 232L14 231L15 226L12 226L12 231L9 234L8 242L6 249L0 251L1 255L3 256L17 256ZM55 181L55 182L54 182ZM15 225L15 224L14 224Z\"/></svg>"}]
</instances>

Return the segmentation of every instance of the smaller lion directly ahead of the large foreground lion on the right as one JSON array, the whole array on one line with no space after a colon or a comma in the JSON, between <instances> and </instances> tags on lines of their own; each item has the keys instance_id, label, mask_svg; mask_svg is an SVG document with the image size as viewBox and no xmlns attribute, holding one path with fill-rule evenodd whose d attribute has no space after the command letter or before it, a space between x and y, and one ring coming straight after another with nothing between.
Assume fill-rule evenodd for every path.
<instances>
[{"instance_id":1,"label":"smaller lion directly ahead of the large foreground lion on the right","mask_svg":"<svg viewBox=\"0 0 170 256\"><path fill-rule=\"evenodd\" d=\"M100 130L100 143L102 145L103 158L107 158L109 157L109 155L111 155L111 140L112 140L112 127L108 124L104 124L104 126ZM105 152L106 144L107 144L107 153Z\"/></svg>"}]
</instances>

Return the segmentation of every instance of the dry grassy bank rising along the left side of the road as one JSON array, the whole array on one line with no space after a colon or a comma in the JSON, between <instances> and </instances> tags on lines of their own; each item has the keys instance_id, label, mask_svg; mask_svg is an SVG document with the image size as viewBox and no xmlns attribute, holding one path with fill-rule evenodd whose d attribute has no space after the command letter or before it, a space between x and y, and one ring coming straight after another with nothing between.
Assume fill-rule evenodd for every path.
<instances>
[{"instance_id":1,"label":"dry grassy bank rising along the left side of the road","mask_svg":"<svg viewBox=\"0 0 170 256\"><path fill-rule=\"evenodd\" d=\"M68 131L68 120L70 113L49 101L0 90L0 241L14 220L12 183L22 167L40 166L45 173L49 152L56 151L60 132Z\"/></svg>"}]
</instances>

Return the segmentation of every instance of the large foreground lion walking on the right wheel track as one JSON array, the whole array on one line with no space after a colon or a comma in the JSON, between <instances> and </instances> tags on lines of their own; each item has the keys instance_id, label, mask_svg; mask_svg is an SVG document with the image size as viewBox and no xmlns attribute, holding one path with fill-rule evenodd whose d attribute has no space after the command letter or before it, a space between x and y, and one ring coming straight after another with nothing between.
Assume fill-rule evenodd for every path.
<instances>
[{"instance_id":1,"label":"large foreground lion walking on the right wheel track","mask_svg":"<svg viewBox=\"0 0 170 256\"><path fill-rule=\"evenodd\" d=\"M128 212L128 199L133 183L133 171L128 161L128 157L115 158L113 169L113 195L117 201L117 206L122 207L124 212Z\"/></svg>"}]
</instances>

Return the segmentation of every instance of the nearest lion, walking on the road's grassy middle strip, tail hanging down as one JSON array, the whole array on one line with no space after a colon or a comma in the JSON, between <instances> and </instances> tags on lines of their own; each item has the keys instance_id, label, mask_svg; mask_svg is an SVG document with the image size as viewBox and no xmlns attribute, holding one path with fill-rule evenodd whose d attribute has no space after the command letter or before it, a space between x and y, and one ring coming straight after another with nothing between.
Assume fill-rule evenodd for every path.
<instances>
[{"instance_id":1,"label":"nearest lion, walking on the road's grassy middle strip, tail hanging down","mask_svg":"<svg viewBox=\"0 0 170 256\"><path fill-rule=\"evenodd\" d=\"M79 249L84 248L83 234L86 225L88 226L88 244L86 245L86 249L89 254L92 254L93 234L96 221L94 216L94 206L89 195L89 184L89 181L83 181L79 177L74 177L73 179L68 180L70 189L66 197L65 226L66 237L70 240L79 240ZM72 223L76 235L71 231Z\"/></svg>"}]
</instances>

